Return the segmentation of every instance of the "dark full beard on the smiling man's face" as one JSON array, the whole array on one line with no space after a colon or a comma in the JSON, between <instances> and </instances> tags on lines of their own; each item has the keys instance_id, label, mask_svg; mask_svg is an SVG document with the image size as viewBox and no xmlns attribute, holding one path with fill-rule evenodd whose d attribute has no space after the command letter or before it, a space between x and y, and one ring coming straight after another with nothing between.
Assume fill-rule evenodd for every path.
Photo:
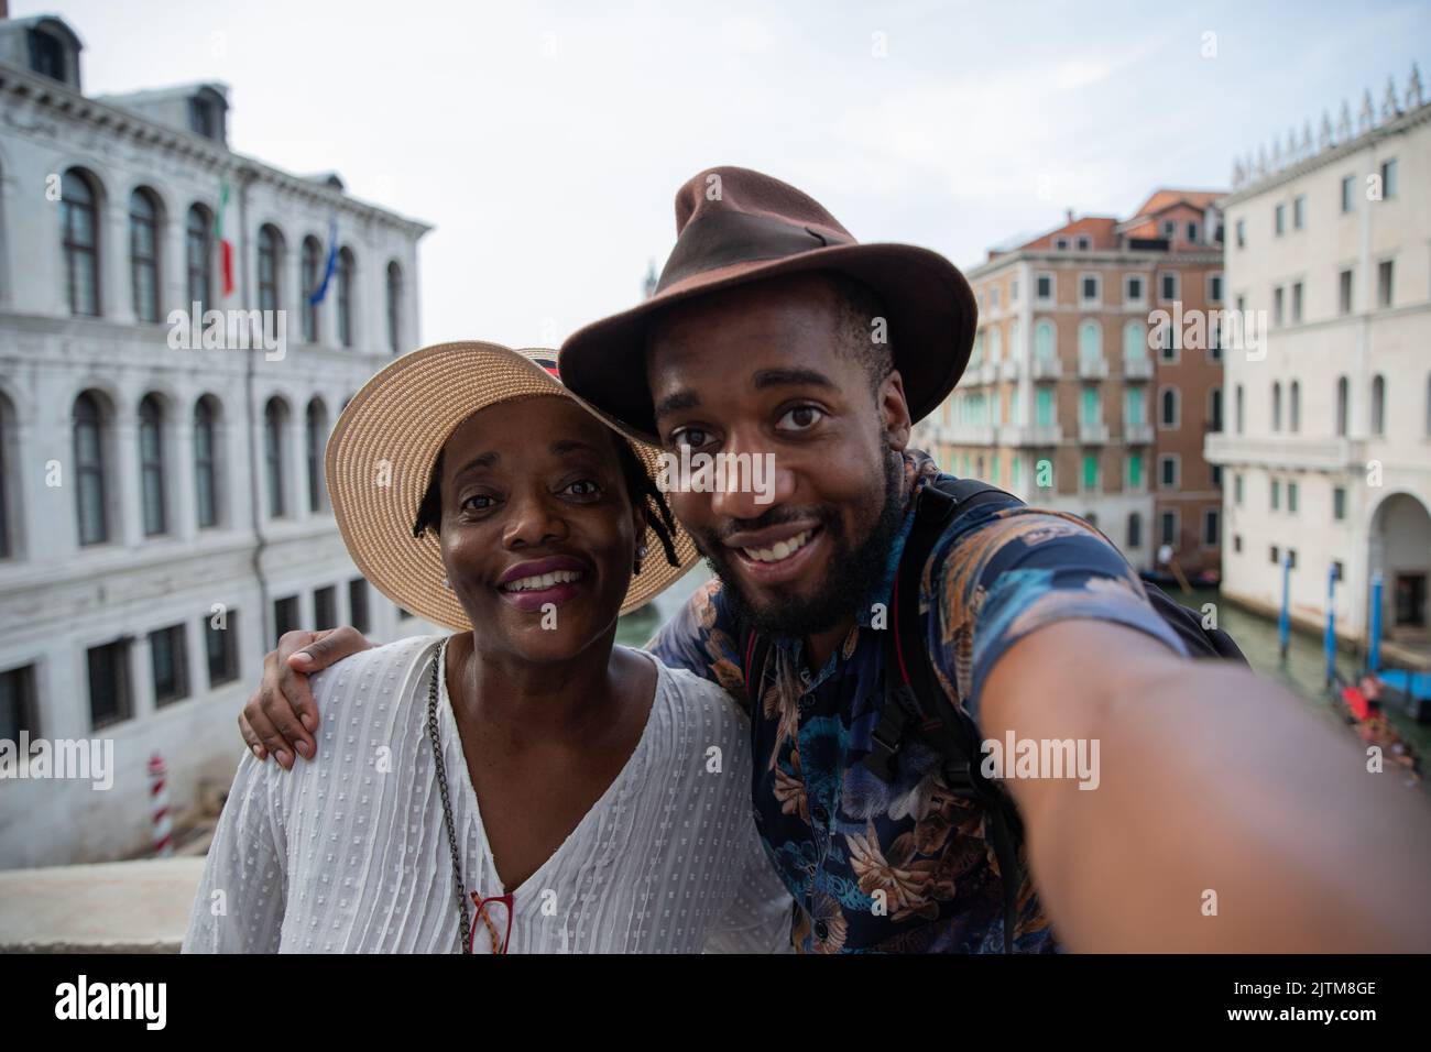
<instances>
[{"instance_id":1,"label":"dark full beard on the smiling man's face","mask_svg":"<svg viewBox=\"0 0 1431 1052\"><path fill-rule=\"evenodd\" d=\"M741 590L740 570L717 534L693 537L705 565L721 580L731 613L761 635L797 640L811 633L827 631L857 613L870 593L881 584L890 548L904 521L904 458L890 451L884 458L884 504L870 534L851 542L839 510L773 508L770 514L748 520L741 525L763 530L814 517L830 538L829 573L810 595L777 595L768 603L756 603ZM839 571L836 571L839 567Z\"/></svg>"}]
</instances>

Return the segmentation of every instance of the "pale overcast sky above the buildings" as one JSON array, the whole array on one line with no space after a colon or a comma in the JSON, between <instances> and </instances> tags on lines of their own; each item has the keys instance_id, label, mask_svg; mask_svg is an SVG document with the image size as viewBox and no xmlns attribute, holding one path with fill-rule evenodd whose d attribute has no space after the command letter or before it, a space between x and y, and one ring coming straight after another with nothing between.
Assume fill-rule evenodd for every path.
<instances>
[{"instance_id":1,"label":"pale overcast sky above the buildings","mask_svg":"<svg viewBox=\"0 0 1431 1052\"><path fill-rule=\"evenodd\" d=\"M600 10L601 14L594 11ZM11 0L90 94L230 86L230 145L434 223L425 342L561 341L630 306L675 187L744 165L861 240L973 265L1155 186L1225 187L1420 60L1431 4ZM1216 57L1202 57L1205 33ZM886 54L877 57L876 34ZM1420 52L1420 53L1418 53Z\"/></svg>"}]
</instances>

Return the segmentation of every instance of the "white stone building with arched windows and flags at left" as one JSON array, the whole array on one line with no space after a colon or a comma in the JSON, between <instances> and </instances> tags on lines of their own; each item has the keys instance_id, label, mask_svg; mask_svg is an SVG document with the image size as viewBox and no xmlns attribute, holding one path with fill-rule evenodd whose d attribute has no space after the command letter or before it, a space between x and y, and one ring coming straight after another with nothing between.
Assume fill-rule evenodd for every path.
<instances>
[{"instance_id":1,"label":"white stone building with arched windows and flags at left","mask_svg":"<svg viewBox=\"0 0 1431 1052\"><path fill-rule=\"evenodd\" d=\"M286 627L419 627L349 561L322 451L419 342L429 228L230 150L222 84L86 96L80 50L0 20L0 739L110 740L113 787L0 779L0 867L142 852L155 753L179 817L226 787ZM282 312L282 356L176 349L193 301Z\"/></svg>"}]
</instances>

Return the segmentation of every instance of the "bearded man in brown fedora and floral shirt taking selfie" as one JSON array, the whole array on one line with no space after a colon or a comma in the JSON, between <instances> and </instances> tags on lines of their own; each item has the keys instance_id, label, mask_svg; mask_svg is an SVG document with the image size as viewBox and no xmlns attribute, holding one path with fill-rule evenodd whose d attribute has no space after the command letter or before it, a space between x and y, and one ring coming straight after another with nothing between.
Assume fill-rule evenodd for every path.
<instances>
[{"instance_id":1,"label":"bearded man in brown fedora and floral shirt taking selfie","mask_svg":"<svg viewBox=\"0 0 1431 1052\"><path fill-rule=\"evenodd\" d=\"M902 554L937 475L910 425L967 362L967 283L744 169L683 186L677 226L657 293L575 333L560 368L671 452L774 468L767 492L670 494L717 580L651 648L750 698L757 823L797 949L1431 948L1425 802L1281 687L1191 661L1082 521L997 495L956 507L909 578L924 653L892 660ZM298 673L362 646L285 635L240 717L250 747L312 756ZM1070 741L1093 760L1083 779L1000 767L1017 854L999 800L960 793L947 757L889 749L886 688L922 668L990 754Z\"/></svg>"}]
</instances>

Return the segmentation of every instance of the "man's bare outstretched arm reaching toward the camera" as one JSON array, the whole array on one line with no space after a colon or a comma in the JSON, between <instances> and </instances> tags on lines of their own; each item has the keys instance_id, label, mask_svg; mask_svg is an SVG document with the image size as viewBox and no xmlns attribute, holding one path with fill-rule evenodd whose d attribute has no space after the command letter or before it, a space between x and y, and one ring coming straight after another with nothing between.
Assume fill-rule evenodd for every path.
<instances>
[{"instance_id":1,"label":"man's bare outstretched arm reaching toward the camera","mask_svg":"<svg viewBox=\"0 0 1431 1052\"><path fill-rule=\"evenodd\" d=\"M1281 686L1068 620L997 658L979 713L990 740L1099 743L1093 790L1005 783L1069 949L1431 950L1431 806Z\"/></svg>"}]
</instances>

